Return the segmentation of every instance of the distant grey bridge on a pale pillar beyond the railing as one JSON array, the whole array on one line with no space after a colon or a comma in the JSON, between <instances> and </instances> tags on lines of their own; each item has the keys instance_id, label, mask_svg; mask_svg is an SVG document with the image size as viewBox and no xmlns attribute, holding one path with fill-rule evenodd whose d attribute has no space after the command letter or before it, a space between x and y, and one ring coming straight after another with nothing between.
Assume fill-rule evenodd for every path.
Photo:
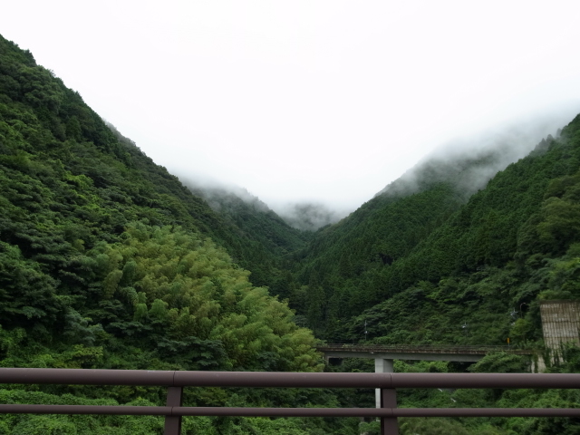
<instances>
[{"instance_id":1,"label":"distant grey bridge on a pale pillar beyond the railing","mask_svg":"<svg viewBox=\"0 0 580 435\"><path fill-rule=\"evenodd\" d=\"M531 355L532 351L510 346L453 346L453 345L382 345L331 343L316 346L326 358L368 358L374 360L374 372L394 372L392 360L477 362L488 353L506 352ZM381 391L376 390L377 408Z\"/></svg>"}]
</instances>

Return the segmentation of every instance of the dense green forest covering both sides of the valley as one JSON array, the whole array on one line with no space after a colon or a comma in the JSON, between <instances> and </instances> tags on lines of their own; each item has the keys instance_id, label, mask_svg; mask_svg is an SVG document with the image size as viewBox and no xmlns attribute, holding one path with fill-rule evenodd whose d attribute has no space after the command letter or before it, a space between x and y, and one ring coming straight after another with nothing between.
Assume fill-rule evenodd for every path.
<instances>
[{"instance_id":1,"label":"dense green forest covering both sides of the valley","mask_svg":"<svg viewBox=\"0 0 580 435\"><path fill-rule=\"evenodd\" d=\"M156 165L0 36L0 366L372 372L315 343L541 352L539 301L580 298L580 116L481 189L496 151L423 163L340 222L290 227L257 198ZM517 318L512 307L521 311ZM469 327L461 324L469 321ZM365 326L366 331L365 334ZM566 348L548 372L580 371ZM549 359L546 361L549 362ZM524 356L395 362L527 372ZM142 387L2 385L2 403L162 404ZM403 407L578 407L572 390L400 391ZM372 407L371 390L196 389L186 406ZM564 418L401 419L402 434L575 434ZM142 416L0 415L0 434L160 434ZM360 419L184 419L184 434L378 433Z\"/></svg>"}]
</instances>

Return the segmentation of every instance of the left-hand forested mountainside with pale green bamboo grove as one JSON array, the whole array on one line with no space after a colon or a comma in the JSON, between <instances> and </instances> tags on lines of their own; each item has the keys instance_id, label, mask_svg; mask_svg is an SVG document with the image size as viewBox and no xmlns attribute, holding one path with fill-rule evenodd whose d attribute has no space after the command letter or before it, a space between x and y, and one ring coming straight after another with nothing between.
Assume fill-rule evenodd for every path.
<instances>
[{"instance_id":1,"label":"left-hand forested mountainside with pale green bamboo grove","mask_svg":"<svg viewBox=\"0 0 580 435\"><path fill-rule=\"evenodd\" d=\"M248 278L240 267L274 271L269 248L112 131L32 53L0 37L2 366L321 370L312 333L293 322L285 303L253 285L259 274ZM41 403L164 400L162 389L81 387L74 398L43 391L7 386L0 396ZM287 406L332 399L321 391L293 394L267 399L248 390L232 396L190 389L186 401ZM162 430L158 418L138 420L3 415L0 432ZM196 419L185 428L307 433L302 424Z\"/></svg>"}]
</instances>

